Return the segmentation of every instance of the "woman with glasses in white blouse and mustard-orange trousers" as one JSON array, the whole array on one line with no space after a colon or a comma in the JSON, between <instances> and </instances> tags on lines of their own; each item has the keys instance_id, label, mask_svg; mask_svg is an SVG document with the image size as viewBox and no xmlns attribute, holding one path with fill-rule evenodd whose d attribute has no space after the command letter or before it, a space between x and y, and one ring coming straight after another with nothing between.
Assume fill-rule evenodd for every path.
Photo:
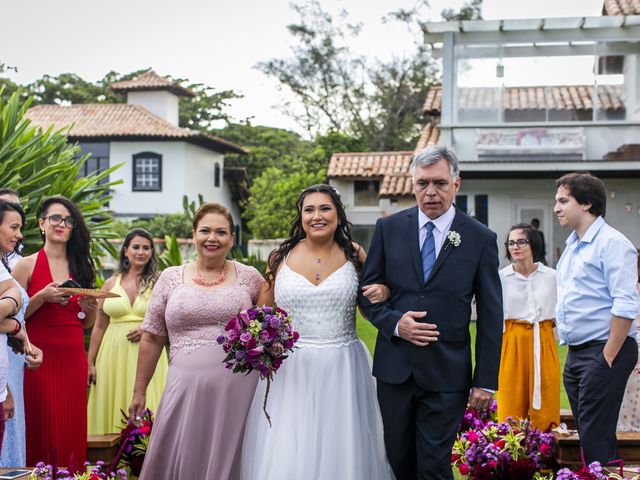
<instances>
[{"instance_id":1,"label":"woman with glasses in white blouse and mustard-orange trousers","mask_svg":"<svg viewBox=\"0 0 640 480\"><path fill-rule=\"evenodd\" d=\"M560 423L560 363L553 335L556 272L534 262L540 234L529 224L511 227L505 242L511 265L500 270L504 334L498 376L498 419L528 418L546 430Z\"/></svg>"}]
</instances>

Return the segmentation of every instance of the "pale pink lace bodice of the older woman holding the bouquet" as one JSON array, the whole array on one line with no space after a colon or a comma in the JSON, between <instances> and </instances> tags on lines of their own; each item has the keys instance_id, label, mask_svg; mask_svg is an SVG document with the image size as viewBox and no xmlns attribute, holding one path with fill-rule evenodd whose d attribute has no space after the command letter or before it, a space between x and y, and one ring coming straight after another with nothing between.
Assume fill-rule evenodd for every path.
<instances>
[{"instance_id":1,"label":"pale pink lace bodice of the older woman holding the bouquet","mask_svg":"<svg viewBox=\"0 0 640 480\"><path fill-rule=\"evenodd\" d=\"M169 358L214 345L227 320L258 301L264 279L253 267L232 262L238 280L205 290L183 282L184 265L167 268L158 279L142 329L169 337Z\"/></svg>"}]
</instances>

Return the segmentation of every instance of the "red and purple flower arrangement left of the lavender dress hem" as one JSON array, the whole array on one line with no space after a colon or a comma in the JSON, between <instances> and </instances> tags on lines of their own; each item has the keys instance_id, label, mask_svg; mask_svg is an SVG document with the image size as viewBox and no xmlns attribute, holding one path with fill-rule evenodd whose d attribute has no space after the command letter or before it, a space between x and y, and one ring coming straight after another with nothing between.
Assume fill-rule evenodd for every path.
<instances>
[{"instance_id":1,"label":"red and purple flower arrangement left of the lavender dress hem","mask_svg":"<svg viewBox=\"0 0 640 480\"><path fill-rule=\"evenodd\" d=\"M149 446L149 436L153 428L153 412L144 409L141 415L142 420L139 422L134 422L124 412L122 412L122 416L124 418L120 429L120 449L111 462L109 470L114 471L116 467L124 467L137 477L142 470L144 457Z\"/></svg>"}]
</instances>

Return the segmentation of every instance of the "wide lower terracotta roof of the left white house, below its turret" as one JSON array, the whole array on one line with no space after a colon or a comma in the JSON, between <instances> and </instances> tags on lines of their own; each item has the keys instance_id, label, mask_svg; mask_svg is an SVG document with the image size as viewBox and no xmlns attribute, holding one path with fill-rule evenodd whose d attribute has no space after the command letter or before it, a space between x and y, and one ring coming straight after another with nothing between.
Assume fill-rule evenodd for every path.
<instances>
[{"instance_id":1,"label":"wide lower terracotta roof of the left white house, below its turret","mask_svg":"<svg viewBox=\"0 0 640 480\"><path fill-rule=\"evenodd\" d=\"M138 137L144 139L175 139L199 144L221 152L247 153L242 147L213 135L180 128L130 104L89 103L77 105L37 105L30 108L27 118L47 129L70 127L73 139Z\"/></svg>"}]
</instances>

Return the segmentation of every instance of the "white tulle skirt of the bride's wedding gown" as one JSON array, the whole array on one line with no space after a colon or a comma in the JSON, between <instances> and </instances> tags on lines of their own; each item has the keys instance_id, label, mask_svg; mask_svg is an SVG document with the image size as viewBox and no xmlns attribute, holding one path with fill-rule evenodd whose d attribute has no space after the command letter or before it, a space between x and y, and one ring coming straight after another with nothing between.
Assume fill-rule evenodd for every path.
<instances>
[{"instance_id":1,"label":"white tulle skirt of the bride's wedding gown","mask_svg":"<svg viewBox=\"0 0 640 480\"><path fill-rule=\"evenodd\" d=\"M382 419L362 342L301 346L271 383L258 384L242 449L241 478L252 480L383 480Z\"/></svg>"}]
</instances>

